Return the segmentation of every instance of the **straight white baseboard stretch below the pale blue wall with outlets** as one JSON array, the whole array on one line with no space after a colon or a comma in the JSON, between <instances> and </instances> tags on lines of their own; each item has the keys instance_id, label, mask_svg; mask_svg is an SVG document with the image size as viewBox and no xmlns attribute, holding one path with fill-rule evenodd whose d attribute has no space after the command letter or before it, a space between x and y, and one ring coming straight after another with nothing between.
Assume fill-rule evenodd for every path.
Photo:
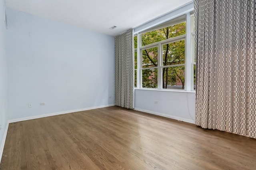
<instances>
[{"instance_id":1,"label":"straight white baseboard stretch below the pale blue wall with outlets","mask_svg":"<svg viewBox=\"0 0 256 170\"><path fill-rule=\"evenodd\" d=\"M104 106L96 106L96 107L88 107L88 108L84 108L84 109L75 109L75 110L70 110L70 111L62 111L62 112L56 112L56 113L49 113L49 114L45 114L45 115L24 117L24 118L20 118L20 119L12 119L12 120L9 120L8 123L28 121L31 119L38 119L38 118L43 118L43 117L55 116L55 115L63 115L63 114L67 114L67 113L74 113L74 112L80 112L80 111L88 111L88 110L92 110L92 109L100 109L103 107L110 107L110 106L114 106L114 104L104 105Z\"/></svg>"}]
</instances>

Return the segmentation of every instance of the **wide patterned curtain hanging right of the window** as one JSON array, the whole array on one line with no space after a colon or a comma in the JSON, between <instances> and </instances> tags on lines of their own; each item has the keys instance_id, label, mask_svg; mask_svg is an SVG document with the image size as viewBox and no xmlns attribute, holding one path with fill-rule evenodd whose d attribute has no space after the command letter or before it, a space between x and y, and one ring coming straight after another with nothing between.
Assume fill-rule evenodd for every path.
<instances>
[{"instance_id":1,"label":"wide patterned curtain hanging right of the window","mask_svg":"<svg viewBox=\"0 0 256 170\"><path fill-rule=\"evenodd\" d=\"M256 0L194 0L196 125L256 138Z\"/></svg>"}]
</instances>

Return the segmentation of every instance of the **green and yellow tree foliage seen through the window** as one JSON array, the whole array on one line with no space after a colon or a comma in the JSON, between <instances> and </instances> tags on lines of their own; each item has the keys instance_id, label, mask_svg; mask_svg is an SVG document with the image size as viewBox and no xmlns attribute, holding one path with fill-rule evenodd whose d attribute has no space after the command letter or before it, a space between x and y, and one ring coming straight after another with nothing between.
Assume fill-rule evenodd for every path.
<instances>
[{"instance_id":1,"label":"green and yellow tree foliage seen through the window","mask_svg":"<svg viewBox=\"0 0 256 170\"><path fill-rule=\"evenodd\" d=\"M142 34L142 46L184 34L186 34L186 22ZM185 40L165 44L163 45L162 50L162 65L185 63ZM157 65L158 47L143 50L142 68L157 67ZM184 70L184 66L163 68L163 88L168 88L168 85L182 84L182 89L184 89ZM142 87L157 87L157 69L146 69L142 71Z\"/></svg>"}]
</instances>

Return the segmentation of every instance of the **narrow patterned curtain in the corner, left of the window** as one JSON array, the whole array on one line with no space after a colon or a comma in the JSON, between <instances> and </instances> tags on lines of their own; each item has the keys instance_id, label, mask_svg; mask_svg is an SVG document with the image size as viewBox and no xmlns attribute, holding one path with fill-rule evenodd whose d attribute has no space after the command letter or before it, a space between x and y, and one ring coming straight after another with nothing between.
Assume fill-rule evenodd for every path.
<instances>
[{"instance_id":1,"label":"narrow patterned curtain in the corner, left of the window","mask_svg":"<svg viewBox=\"0 0 256 170\"><path fill-rule=\"evenodd\" d=\"M134 108L134 59L133 31L129 30L115 37L115 104Z\"/></svg>"}]
</instances>

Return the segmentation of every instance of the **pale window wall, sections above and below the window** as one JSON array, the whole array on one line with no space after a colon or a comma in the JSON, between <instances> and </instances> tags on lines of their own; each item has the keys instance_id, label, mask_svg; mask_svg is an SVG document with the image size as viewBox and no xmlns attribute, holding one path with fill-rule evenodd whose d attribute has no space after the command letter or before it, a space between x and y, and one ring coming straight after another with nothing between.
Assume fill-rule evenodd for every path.
<instances>
[{"instance_id":1,"label":"pale window wall, sections above and below the window","mask_svg":"<svg viewBox=\"0 0 256 170\"><path fill-rule=\"evenodd\" d=\"M189 13L193 8L194 3L190 2L168 14L138 26L134 29L134 32L138 33L152 26L166 22L167 20L176 18L177 16ZM196 105L195 92L135 89L134 101L136 110L194 123ZM158 104L156 104L155 101Z\"/></svg>"}]
</instances>

